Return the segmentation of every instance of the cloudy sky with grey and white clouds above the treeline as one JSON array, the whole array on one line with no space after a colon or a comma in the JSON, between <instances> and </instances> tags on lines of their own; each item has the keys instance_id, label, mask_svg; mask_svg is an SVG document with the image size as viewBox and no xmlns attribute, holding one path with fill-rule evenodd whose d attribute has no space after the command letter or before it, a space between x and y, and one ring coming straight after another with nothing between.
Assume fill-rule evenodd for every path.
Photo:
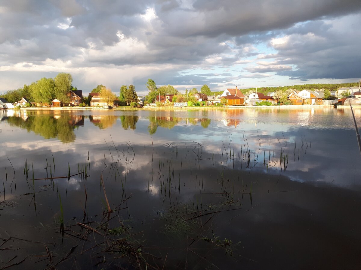
<instances>
[{"instance_id":1,"label":"cloudy sky with grey and white clouds above the treeline","mask_svg":"<svg viewBox=\"0 0 361 270\"><path fill-rule=\"evenodd\" d=\"M0 1L0 91L69 72L88 93L358 81L357 0Z\"/></svg>"}]
</instances>

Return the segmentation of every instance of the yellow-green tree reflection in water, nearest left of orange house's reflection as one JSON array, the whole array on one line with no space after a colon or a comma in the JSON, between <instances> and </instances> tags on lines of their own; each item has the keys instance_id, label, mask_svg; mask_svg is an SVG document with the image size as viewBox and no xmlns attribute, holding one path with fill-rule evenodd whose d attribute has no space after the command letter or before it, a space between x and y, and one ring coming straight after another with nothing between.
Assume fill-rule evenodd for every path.
<instances>
[{"instance_id":1,"label":"yellow-green tree reflection in water, nearest left of orange house's reflection","mask_svg":"<svg viewBox=\"0 0 361 270\"><path fill-rule=\"evenodd\" d=\"M197 125L200 122L201 126L205 129L209 126L211 120L210 118L195 118L195 117L188 117L188 118L180 118L180 117L149 117L149 126L148 131L149 134L153 135L156 133L158 126L164 127L167 129L173 129L175 125L177 125L182 120L185 120L186 123L191 123L193 125Z\"/></svg>"}]
</instances>

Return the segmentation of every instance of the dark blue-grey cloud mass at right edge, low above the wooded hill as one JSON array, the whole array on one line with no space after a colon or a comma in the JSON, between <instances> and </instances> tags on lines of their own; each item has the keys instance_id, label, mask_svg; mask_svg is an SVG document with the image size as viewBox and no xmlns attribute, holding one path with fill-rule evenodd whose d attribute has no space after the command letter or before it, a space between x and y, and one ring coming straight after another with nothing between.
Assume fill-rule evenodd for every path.
<instances>
[{"instance_id":1,"label":"dark blue-grey cloud mass at right edge, low above the wooded hill","mask_svg":"<svg viewBox=\"0 0 361 270\"><path fill-rule=\"evenodd\" d=\"M361 23L360 17L344 17L339 20L338 26L333 27L318 23L320 27L311 28L308 32L292 33L285 44L275 46L278 63L296 64L295 70L283 70L276 74L305 80L358 78L361 37L355 33ZM318 31L320 28L323 31Z\"/></svg>"}]
</instances>

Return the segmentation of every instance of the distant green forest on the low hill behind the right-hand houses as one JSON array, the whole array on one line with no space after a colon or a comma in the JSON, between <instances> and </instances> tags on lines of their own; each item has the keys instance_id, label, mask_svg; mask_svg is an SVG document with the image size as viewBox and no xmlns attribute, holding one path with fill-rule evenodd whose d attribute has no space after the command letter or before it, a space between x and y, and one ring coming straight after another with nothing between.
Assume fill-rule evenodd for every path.
<instances>
[{"instance_id":1,"label":"distant green forest on the low hill behind the right-hand houses","mask_svg":"<svg viewBox=\"0 0 361 270\"><path fill-rule=\"evenodd\" d=\"M278 87L257 87L257 92L267 94L268 92L275 92L277 90L287 90L287 89L296 89L296 90L318 90L318 89L329 89L330 91L338 90L340 87L356 87L358 86L358 82L347 82L344 84L299 84L299 85L289 85L289 86L278 86ZM231 87L234 88L234 87ZM243 94L248 91L256 91L256 87L247 88L247 89L239 89ZM223 91L212 92L212 94L218 95L222 94Z\"/></svg>"}]
</instances>

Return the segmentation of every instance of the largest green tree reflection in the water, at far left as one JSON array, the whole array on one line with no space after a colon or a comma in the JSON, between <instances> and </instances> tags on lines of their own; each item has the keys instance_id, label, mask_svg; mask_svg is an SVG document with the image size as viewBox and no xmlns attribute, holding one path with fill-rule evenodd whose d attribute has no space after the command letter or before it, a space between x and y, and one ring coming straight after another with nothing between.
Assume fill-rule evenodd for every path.
<instances>
[{"instance_id":1,"label":"largest green tree reflection in the water, at far left","mask_svg":"<svg viewBox=\"0 0 361 270\"><path fill-rule=\"evenodd\" d=\"M29 116L26 120L21 117L9 117L8 123L12 126L21 127L28 132L42 136L44 139L57 138L62 143L75 141L74 127L71 125L70 116L54 118L51 115Z\"/></svg>"}]
</instances>

